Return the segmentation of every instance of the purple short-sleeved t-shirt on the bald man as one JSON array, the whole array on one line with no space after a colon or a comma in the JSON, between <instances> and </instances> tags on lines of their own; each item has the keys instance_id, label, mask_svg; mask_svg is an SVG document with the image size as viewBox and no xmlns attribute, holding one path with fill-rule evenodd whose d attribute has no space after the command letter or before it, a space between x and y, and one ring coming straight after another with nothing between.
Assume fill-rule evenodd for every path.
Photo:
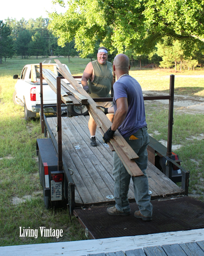
<instances>
[{"instance_id":1,"label":"purple short-sleeved t-shirt on the bald man","mask_svg":"<svg viewBox=\"0 0 204 256\"><path fill-rule=\"evenodd\" d=\"M118 127L120 134L126 138L146 126L144 99L139 82L130 75L122 76L114 85L114 112L117 110L116 100L127 98L128 110L124 121Z\"/></svg>"}]
</instances>

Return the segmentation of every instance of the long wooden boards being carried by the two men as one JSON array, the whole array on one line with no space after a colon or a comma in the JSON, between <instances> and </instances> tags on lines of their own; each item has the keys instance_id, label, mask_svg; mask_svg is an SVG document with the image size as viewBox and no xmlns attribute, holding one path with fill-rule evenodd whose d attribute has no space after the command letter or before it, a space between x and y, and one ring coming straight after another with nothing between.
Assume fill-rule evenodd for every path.
<instances>
[{"instance_id":1,"label":"long wooden boards being carried by the two men","mask_svg":"<svg viewBox=\"0 0 204 256\"><path fill-rule=\"evenodd\" d=\"M88 99L87 109L96 122L100 132L104 134L111 126L111 121L107 118L103 111L96 108L97 104L88 95L88 93L80 86L80 84L69 74L62 63L55 59L58 64L60 73L70 82L72 87L80 94ZM132 147L125 141L118 131L115 132L113 139L110 140L109 145L113 147L121 159L127 172L134 177L143 176L141 169L138 167L134 159L138 158L137 154L133 151Z\"/></svg>"}]
</instances>

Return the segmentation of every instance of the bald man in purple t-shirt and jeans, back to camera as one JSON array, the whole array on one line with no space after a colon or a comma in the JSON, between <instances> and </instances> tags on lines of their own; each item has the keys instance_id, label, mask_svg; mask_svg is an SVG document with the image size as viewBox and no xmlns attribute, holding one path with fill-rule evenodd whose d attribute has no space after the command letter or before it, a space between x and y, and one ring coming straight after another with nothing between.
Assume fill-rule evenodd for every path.
<instances>
[{"instance_id":1,"label":"bald man in purple t-shirt and jeans, back to camera","mask_svg":"<svg viewBox=\"0 0 204 256\"><path fill-rule=\"evenodd\" d=\"M142 89L138 81L129 75L130 60L125 54L118 54L114 58L113 71L117 81L114 83L113 107L106 112L115 113L113 123L104 134L107 143L113 138L118 129L120 134L139 156L135 162L142 170L144 176L132 177L134 183L134 194L139 210L134 216L144 221L152 219L152 204L148 193L148 179L145 173L147 168L147 145L149 135L145 120L144 99ZM127 193L131 176L127 173L117 153L113 153L113 176L115 205L108 207L109 215L130 215L131 209Z\"/></svg>"}]
</instances>

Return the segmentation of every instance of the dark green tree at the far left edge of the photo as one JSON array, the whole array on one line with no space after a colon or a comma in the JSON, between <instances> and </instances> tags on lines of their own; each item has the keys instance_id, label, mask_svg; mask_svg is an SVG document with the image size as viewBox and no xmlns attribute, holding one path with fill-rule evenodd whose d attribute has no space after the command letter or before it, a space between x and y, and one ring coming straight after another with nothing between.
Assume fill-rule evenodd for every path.
<instances>
[{"instance_id":1,"label":"dark green tree at the far left edge of the photo","mask_svg":"<svg viewBox=\"0 0 204 256\"><path fill-rule=\"evenodd\" d=\"M2 58L12 57L13 55L13 40L11 38L11 27L3 23L0 20L0 64L2 64Z\"/></svg>"}]
</instances>

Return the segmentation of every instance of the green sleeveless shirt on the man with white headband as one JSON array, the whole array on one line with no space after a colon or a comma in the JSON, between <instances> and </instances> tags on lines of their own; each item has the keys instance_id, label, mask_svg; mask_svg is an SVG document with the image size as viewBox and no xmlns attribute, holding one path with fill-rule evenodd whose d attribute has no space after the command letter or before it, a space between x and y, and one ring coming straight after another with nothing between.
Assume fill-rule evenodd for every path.
<instances>
[{"instance_id":1,"label":"green sleeveless shirt on the man with white headband","mask_svg":"<svg viewBox=\"0 0 204 256\"><path fill-rule=\"evenodd\" d=\"M97 59L92 61L94 70L94 79L91 82L88 80L91 98L110 97L111 82L113 80L112 64L106 61L105 65L101 65Z\"/></svg>"}]
</instances>

